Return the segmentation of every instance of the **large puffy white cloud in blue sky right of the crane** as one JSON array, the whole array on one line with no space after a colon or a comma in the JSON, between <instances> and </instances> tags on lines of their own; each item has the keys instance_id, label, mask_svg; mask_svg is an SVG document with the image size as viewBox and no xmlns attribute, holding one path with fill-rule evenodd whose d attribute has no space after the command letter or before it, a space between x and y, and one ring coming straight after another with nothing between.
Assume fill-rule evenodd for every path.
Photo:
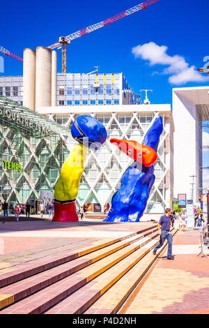
<instances>
[{"instance_id":1,"label":"large puffy white cloud in blue sky right of the crane","mask_svg":"<svg viewBox=\"0 0 209 328\"><path fill-rule=\"evenodd\" d=\"M135 58L141 58L149 61L150 66L163 65L162 74L171 75L169 83L185 84L187 82L206 82L209 77L206 77L196 70L195 66L189 66L184 57L178 54L169 56L167 54L168 47L165 45L156 45L154 42L137 45L132 48L132 53ZM156 74L156 72L155 72Z\"/></svg>"}]
</instances>

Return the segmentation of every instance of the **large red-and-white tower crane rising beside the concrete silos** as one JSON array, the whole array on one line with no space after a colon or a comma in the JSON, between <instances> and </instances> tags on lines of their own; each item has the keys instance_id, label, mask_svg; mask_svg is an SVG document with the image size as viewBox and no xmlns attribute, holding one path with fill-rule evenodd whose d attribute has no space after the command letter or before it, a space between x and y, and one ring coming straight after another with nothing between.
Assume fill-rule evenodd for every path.
<instances>
[{"instance_id":1,"label":"large red-and-white tower crane rising beside the concrete silos","mask_svg":"<svg viewBox=\"0 0 209 328\"><path fill-rule=\"evenodd\" d=\"M75 33L70 34L69 36L61 36L59 38L59 41L54 43L53 45L50 45L47 47L47 49L52 50L55 48L62 48L62 73L66 73L67 69L67 45L70 44L72 40L75 40L75 38L79 38L80 36L84 36L87 33L93 32L96 29L100 29L101 27L105 27L107 24L111 24L113 22L116 22L116 20L121 20L121 18L126 17L128 15L131 15L133 13L136 13L136 11L139 11L141 9L146 9L151 4L160 1L160 0L147 0L142 3L140 3L137 6L134 6L130 9L127 9L123 11L123 13L120 13L118 15L115 15L113 17L108 18L107 20L103 20L100 23L93 24L89 27L85 27L85 29L81 29Z\"/></svg>"}]
</instances>

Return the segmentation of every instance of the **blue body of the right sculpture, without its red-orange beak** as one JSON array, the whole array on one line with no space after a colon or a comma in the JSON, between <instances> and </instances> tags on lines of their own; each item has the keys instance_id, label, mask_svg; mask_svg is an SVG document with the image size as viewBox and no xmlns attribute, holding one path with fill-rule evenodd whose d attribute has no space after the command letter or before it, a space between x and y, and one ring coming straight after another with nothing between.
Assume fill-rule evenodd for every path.
<instances>
[{"instance_id":1,"label":"blue body of the right sculpture, without its red-orange beak","mask_svg":"<svg viewBox=\"0 0 209 328\"><path fill-rule=\"evenodd\" d=\"M144 137L144 146L157 152L162 131L162 117L158 117ZM154 182L154 165L147 167L143 162L134 161L123 174L121 188L112 197L111 209L104 221L139 222Z\"/></svg>"}]
</instances>

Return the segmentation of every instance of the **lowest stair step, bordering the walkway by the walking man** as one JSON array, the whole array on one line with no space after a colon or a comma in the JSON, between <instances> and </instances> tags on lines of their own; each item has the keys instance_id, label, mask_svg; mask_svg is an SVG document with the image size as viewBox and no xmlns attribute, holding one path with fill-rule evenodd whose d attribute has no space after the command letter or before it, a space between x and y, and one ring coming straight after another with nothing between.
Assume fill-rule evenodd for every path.
<instances>
[{"instance_id":1,"label":"lowest stair step, bordering the walkway by the walking man","mask_svg":"<svg viewBox=\"0 0 209 328\"><path fill-rule=\"evenodd\" d=\"M172 230L174 236L178 230ZM157 256L167 247L165 243L157 255L147 254L130 271L127 272L119 281L117 281L107 292L105 292L97 301L95 301L84 314L116 314L127 297L130 296L134 288L139 285L141 279L150 269Z\"/></svg>"}]
</instances>

